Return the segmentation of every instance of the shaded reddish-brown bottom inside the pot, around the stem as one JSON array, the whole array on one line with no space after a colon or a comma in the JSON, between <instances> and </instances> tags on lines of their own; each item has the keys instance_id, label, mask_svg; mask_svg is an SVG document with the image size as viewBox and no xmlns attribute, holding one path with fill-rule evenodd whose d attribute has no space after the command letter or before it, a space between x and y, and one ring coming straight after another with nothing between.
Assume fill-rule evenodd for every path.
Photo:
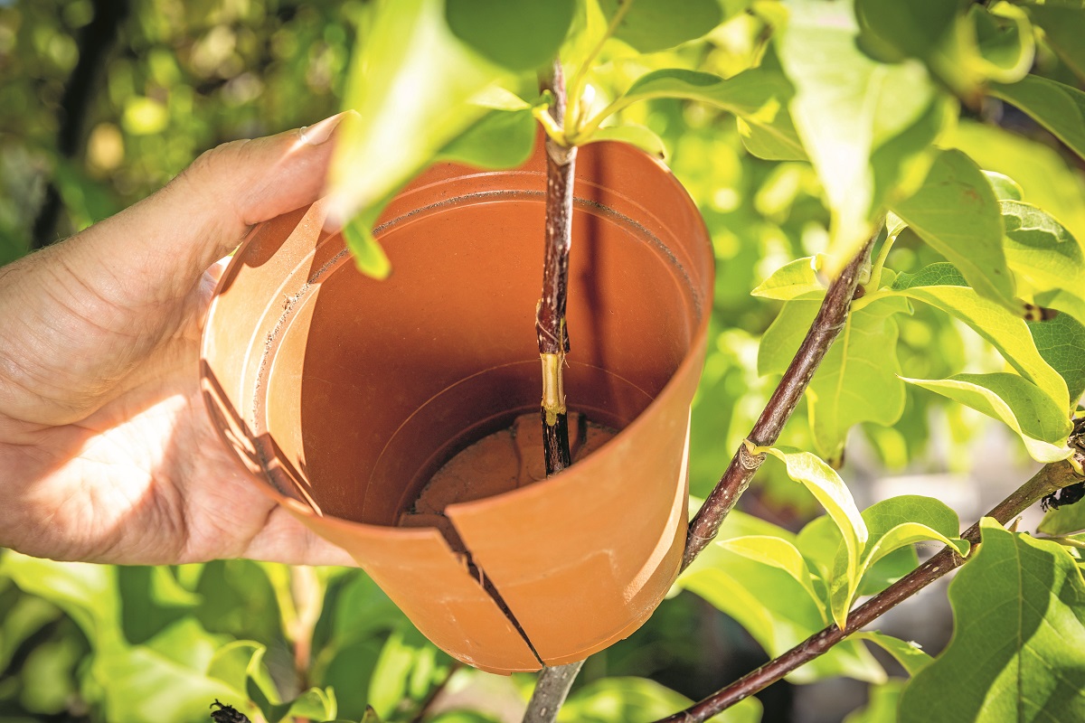
<instances>
[{"instance_id":1,"label":"shaded reddish-brown bottom inside the pot, around the stem","mask_svg":"<svg viewBox=\"0 0 1085 723\"><path fill-rule=\"evenodd\" d=\"M574 464L617 434L584 414L569 415L569 447ZM546 479L542 428L538 414L522 414L511 426L470 444L444 464L399 516L399 527L435 527L456 552L465 553L445 508L528 487Z\"/></svg>"}]
</instances>

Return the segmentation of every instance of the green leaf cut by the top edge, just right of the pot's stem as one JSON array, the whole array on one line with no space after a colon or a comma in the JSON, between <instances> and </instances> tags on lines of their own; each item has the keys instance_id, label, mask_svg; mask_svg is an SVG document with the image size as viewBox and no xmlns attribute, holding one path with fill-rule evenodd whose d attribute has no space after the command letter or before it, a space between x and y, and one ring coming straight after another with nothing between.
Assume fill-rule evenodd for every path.
<instances>
[{"instance_id":1,"label":"green leaf cut by the top edge, just right of the pot's stem","mask_svg":"<svg viewBox=\"0 0 1085 723\"><path fill-rule=\"evenodd\" d=\"M674 48L707 35L724 22L719 0L599 0L609 22L622 5L628 10L615 28L614 37L642 53Z\"/></svg>"}]
</instances>

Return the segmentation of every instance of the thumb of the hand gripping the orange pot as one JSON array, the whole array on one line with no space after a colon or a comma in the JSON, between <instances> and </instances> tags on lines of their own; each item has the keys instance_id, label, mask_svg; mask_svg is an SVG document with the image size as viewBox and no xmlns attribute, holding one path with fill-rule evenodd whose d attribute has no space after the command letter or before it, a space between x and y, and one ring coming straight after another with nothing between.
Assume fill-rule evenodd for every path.
<instances>
[{"instance_id":1,"label":"thumb of the hand gripping the orange pot","mask_svg":"<svg viewBox=\"0 0 1085 723\"><path fill-rule=\"evenodd\" d=\"M204 153L157 193L89 229L85 261L122 271L129 304L183 295L254 223L320 197L336 127L350 115Z\"/></svg>"}]
</instances>

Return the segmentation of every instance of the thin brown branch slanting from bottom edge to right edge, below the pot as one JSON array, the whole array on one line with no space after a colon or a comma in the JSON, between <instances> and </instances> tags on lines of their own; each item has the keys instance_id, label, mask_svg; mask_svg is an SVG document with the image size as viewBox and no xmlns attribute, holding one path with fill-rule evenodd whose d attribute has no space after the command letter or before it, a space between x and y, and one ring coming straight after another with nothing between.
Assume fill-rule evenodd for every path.
<instances>
[{"instance_id":1,"label":"thin brown branch slanting from bottom edge to right edge, below the pot","mask_svg":"<svg viewBox=\"0 0 1085 723\"><path fill-rule=\"evenodd\" d=\"M1081 460L1082 457L1078 455L1077 461L1081 462ZM1081 481L1081 477L1069 462L1054 462L1044 465L1032 479L988 512L986 517L994 517L1000 524L1006 525L1046 495L1078 481ZM976 522L968 528L961 537L973 546L979 544L980 524ZM740 700L764 689L800 666L827 653L833 645L860 628L870 624L886 610L911 597L946 572L960 567L965 561L966 558L959 556L953 547L943 548L848 614L846 630L842 631L837 625L830 625L701 702L656 723L699 723L709 720Z\"/></svg>"}]
</instances>

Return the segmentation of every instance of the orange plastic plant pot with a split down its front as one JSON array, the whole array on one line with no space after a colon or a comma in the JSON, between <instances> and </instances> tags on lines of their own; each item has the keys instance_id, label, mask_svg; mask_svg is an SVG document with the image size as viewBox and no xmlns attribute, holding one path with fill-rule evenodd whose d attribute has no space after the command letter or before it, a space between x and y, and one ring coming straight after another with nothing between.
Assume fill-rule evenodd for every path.
<instances>
[{"instance_id":1,"label":"orange plastic plant pot with a split down its front","mask_svg":"<svg viewBox=\"0 0 1085 723\"><path fill-rule=\"evenodd\" d=\"M557 477L448 507L468 555L435 528L396 527L455 453L538 409L537 145L516 170L443 165L404 191L376 230L383 282L321 231L320 203L261 224L203 346L210 415L260 487L430 640L500 673L628 636L674 581L712 304L710 241L674 177L627 145L582 149L565 391L621 431Z\"/></svg>"}]
</instances>

